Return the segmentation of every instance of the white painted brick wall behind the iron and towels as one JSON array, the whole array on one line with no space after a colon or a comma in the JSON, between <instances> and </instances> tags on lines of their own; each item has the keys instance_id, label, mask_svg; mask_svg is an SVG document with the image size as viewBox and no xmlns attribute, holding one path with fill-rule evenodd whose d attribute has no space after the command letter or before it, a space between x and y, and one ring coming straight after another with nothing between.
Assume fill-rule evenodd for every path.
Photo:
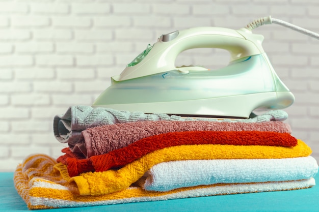
<instances>
[{"instance_id":1,"label":"white painted brick wall behind the iron and towels","mask_svg":"<svg viewBox=\"0 0 319 212\"><path fill-rule=\"evenodd\" d=\"M193 26L240 28L272 15L319 32L317 0L0 1L0 171L29 154L61 155L52 118L91 105L148 43ZM255 29L296 96L286 109L293 135L319 159L319 41L278 25ZM221 50L190 50L178 65L227 64Z\"/></svg>"}]
</instances>

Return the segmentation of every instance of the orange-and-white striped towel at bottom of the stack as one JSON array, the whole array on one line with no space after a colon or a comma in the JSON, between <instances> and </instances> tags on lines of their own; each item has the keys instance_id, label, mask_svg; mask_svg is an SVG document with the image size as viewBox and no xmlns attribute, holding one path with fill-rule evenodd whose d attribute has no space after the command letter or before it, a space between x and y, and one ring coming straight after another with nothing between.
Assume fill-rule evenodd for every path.
<instances>
[{"instance_id":1,"label":"orange-and-white striped towel at bottom of the stack","mask_svg":"<svg viewBox=\"0 0 319 212\"><path fill-rule=\"evenodd\" d=\"M313 178L293 181L244 184L215 184L176 189L169 192L145 191L129 187L120 192L98 196L81 196L74 184L68 183L54 169L55 160L34 155L19 164L14 173L14 185L29 209L84 207L129 202L158 201L189 197L256 193L306 189L315 185Z\"/></svg>"}]
</instances>

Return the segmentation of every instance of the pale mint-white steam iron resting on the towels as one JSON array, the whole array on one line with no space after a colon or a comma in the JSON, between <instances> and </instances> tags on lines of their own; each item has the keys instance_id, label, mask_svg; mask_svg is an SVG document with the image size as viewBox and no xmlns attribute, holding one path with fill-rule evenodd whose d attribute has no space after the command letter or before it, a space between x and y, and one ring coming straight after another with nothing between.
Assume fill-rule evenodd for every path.
<instances>
[{"instance_id":1,"label":"pale mint-white steam iron resting on the towels","mask_svg":"<svg viewBox=\"0 0 319 212\"><path fill-rule=\"evenodd\" d=\"M248 118L256 109L283 109L295 98L274 71L261 43L246 28L196 27L162 35L124 71L92 107L185 116ZM230 52L228 66L209 71L175 67L193 48Z\"/></svg>"}]
</instances>

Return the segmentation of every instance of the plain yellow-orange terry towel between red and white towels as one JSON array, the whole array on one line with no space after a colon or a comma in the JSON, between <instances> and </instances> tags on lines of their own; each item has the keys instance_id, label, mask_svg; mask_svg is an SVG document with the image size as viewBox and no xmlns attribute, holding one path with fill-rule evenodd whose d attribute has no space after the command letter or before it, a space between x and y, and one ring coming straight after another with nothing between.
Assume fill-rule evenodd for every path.
<instances>
[{"instance_id":1,"label":"plain yellow-orange terry towel between red and white towels","mask_svg":"<svg viewBox=\"0 0 319 212\"><path fill-rule=\"evenodd\" d=\"M80 195L101 195L127 189L152 166L167 161L295 158L307 157L310 154L310 147L301 140L298 140L298 145L294 147L220 144L180 145L156 150L118 170L86 172L70 178L66 165L59 163L56 168L66 179L77 184Z\"/></svg>"}]
</instances>

